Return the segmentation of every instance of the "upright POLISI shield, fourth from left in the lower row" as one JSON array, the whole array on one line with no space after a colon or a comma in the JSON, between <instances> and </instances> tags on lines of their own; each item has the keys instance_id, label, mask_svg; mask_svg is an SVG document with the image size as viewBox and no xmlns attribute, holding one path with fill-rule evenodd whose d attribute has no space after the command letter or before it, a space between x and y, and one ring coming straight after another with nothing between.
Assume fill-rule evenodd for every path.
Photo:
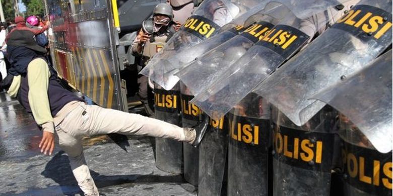
<instances>
[{"instance_id":1,"label":"upright POLISI shield, fourth from left in the lower row","mask_svg":"<svg viewBox=\"0 0 393 196\"><path fill-rule=\"evenodd\" d=\"M268 104L254 93L228 114L228 195L268 195L269 117Z\"/></svg>"}]
</instances>

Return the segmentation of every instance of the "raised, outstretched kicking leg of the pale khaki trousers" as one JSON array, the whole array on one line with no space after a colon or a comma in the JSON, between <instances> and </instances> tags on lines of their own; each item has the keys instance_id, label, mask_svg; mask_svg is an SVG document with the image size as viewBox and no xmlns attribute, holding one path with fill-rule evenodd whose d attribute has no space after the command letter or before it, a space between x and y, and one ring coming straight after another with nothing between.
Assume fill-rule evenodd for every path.
<instances>
[{"instance_id":1,"label":"raised, outstretched kicking leg of the pale khaki trousers","mask_svg":"<svg viewBox=\"0 0 393 196\"><path fill-rule=\"evenodd\" d=\"M72 130L73 133L69 133L74 136L119 133L185 140L183 128L176 125L138 114L85 104L70 113L61 124L78 127Z\"/></svg>"}]
</instances>

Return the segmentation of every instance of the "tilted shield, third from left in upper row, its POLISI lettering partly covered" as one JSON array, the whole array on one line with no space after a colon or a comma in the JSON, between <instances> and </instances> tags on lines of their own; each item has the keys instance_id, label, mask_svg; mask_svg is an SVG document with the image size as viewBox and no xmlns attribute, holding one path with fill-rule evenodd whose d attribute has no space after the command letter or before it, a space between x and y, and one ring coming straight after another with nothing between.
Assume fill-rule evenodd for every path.
<instances>
[{"instance_id":1,"label":"tilted shield, third from left in upper row, its POLISI lettering partly covered","mask_svg":"<svg viewBox=\"0 0 393 196\"><path fill-rule=\"evenodd\" d=\"M265 15L253 17L254 25L181 68L175 75L194 95L199 94L288 13L288 8L280 4Z\"/></svg>"}]
</instances>

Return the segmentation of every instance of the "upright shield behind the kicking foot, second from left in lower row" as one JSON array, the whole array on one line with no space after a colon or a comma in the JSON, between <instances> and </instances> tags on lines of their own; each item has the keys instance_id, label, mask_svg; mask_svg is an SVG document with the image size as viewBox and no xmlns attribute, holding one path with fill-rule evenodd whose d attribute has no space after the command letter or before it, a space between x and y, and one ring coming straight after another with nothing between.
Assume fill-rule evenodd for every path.
<instances>
[{"instance_id":1,"label":"upright shield behind the kicking foot, second from left in lower row","mask_svg":"<svg viewBox=\"0 0 393 196\"><path fill-rule=\"evenodd\" d=\"M193 127L200 123L202 111L195 105L191 105L189 100L192 94L180 82L181 93L181 120L183 127ZM198 164L199 148L194 148L189 144L183 143L184 156L184 178L192 185L198 185Z\"/></svg>"}]
</instances>

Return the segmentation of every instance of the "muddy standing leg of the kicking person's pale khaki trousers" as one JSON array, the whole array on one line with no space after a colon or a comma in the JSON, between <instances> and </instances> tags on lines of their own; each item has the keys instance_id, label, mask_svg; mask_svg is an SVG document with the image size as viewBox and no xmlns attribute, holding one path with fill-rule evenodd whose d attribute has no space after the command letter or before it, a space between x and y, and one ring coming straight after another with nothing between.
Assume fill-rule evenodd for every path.
<instances>
[{"instance_id":1,"label":"muddy standing leg of the kicking person's pale khaki trousers","mask_svg":"<svg viewBox=\"0 0 393 196\"><path fill-rule=\"evenodd\" d=\"M82 189L85 195L98 195L98 189L90 175L89 168L86 164L81 139L75 138L68 133L65 133L60 128L56 128L56 133L59 138L60 148L68 154L71 169L73 170L74 176L78 181L79 187Z\"/></svg>"}]
</instances>

